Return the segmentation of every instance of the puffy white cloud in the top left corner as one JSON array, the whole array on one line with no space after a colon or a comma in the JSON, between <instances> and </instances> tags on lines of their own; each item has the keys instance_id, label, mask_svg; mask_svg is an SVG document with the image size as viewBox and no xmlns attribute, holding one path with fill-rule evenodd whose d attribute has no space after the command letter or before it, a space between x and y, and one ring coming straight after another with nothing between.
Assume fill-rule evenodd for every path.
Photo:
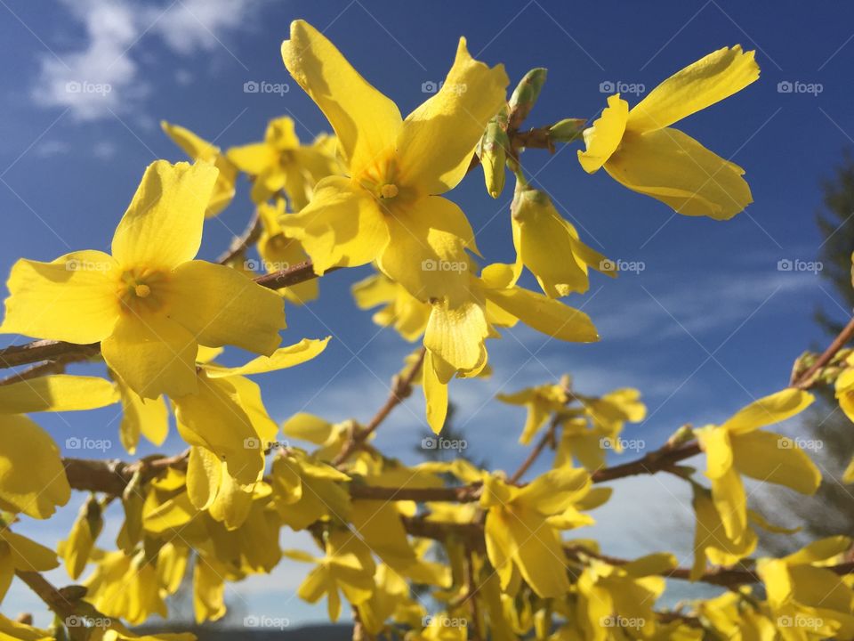
<instances>
[{"instance_id":1,"label":"puffy white cloud in the top left corner","mask_svg":"<svg viewBox=\"0 0 854 641\"><path fill-rule=\"evenodd\" d=\"M158 37L174 53L189 55L223 44L226 34L251 22L264 0L62 0L85 27L76 50L45 54L33 87L36 104L70 110L81 121L133 111L150 91L137 52L143 37Z\"/></svg>"}]
</instances>

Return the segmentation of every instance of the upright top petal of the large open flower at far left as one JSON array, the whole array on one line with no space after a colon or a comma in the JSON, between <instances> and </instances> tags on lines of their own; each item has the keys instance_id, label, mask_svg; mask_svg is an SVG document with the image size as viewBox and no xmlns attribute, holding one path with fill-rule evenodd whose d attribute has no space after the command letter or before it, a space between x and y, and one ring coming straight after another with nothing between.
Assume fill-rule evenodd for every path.
<instances>
[{"instance_id":1,"label":"upright top petal of the large open flower at far left","mask_svg":"<svg viewBox=\"0 0 854 641\"><path fill-rule=\"evenodd\" d=\"M119 264L168 270L195 258L217 174L204 163L151 163L113 236Z\"/></svg>"}]
</instances>

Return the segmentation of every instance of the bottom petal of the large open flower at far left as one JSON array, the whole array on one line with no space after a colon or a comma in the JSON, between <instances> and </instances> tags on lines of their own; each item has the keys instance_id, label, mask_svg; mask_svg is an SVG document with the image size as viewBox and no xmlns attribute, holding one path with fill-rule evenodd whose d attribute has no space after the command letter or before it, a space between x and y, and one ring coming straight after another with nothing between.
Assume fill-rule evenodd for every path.
<instances>
[{"instance_id":1,"label":"bottom petal of the large open flower at far left","mask_svg":"<svg viewBox=\"0 0 854 641\"><path fill-rule=\"evenodd\" d=\"M197 343L187 329L163 316L123 315L101 343L104 361L142 398L196 392Z\"/></svg>"}]
</instances>

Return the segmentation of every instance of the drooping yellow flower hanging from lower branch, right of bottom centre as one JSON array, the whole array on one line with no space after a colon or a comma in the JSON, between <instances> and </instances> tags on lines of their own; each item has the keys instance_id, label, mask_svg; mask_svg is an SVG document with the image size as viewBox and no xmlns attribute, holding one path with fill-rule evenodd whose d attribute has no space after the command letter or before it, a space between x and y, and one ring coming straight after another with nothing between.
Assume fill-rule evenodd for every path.
<instances>
[{"instance_id":1,"label":"drooping yellow flower hanging from lower branch, right of bottom centre","mask_svg":"<svg viewBox=\"0 0 854 641\"><path fill-rule=\"evenodd\" d=\"M557 528L591 523L582 515L572 523L559 518L589 491L584 470L561 467L523 488L507 485L493 476L484 480L480 506L487 508L486 542L489 562L506 590L514 573L544 598L560 598L569 591L566 556Z\"/></svg>"}]
</instances>

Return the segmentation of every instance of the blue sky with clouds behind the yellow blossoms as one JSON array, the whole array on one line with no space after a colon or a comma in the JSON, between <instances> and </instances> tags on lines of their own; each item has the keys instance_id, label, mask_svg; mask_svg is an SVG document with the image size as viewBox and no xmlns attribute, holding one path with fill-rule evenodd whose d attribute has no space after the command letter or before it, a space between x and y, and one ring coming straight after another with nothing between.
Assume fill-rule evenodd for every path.
<instances>
[{"instance_id":1,"label":"blue sky with clouds behind the yellow blossoms","mask_svg":"<svg viewBox=\"0 0 854 641\"><path fill-rule=\"evenodd\" d=\"M452 385L469 448L495 467L510 469L524 457L513 448L524 411L489 402L499 391L565 372L587 394L636 386L649 417L627 426L624 436L655 447L683 423L725 418L785 385L794 358L822 339L811 320L817 304L847 313L814 273L780 271L778 262L817 259L818 186L854 142L850 4L826 4L819 12L802 3L723 0L0 0L0 17L3 273L20 256L52 260L71 249L107 249L144 167L156 158L183 159L160 131L161 118L223 147L261 140L267 120L280 115L296 120L303 139L328 131L281 62L279 44L295 18L324 30L404 113L427 97L425 83L444 77L461 35L479 59L504 62L512 83L532 67L546 67L549 79L531 126L595 115L607 96L600 87L608 84L649 91L721 46L755 49L759 82L678 125L745 167L755 202L728 223L674 215L604 173L584 174L574 149L524 155L536 185L588 244L644 269L616 281L594 274L588 294L568 300L591 315L600 344L563 345L512 329L489 345L490 380ZM247 82L285 83L287 91L246 93ZM88 89L69 92L68 83ZM109 92L96 91L98 85L109 85ZM788 86L795 91L786 92ZM624 98L640 100L631 93ZM235 204L207 223L203 257L218 255L243 229L251 213L247 191L242 184ZM469 216L487 258L510 260L511 192L489 199L474 172L449 195ZM286 343L334 340L317 361L260 381L274 418L304 410L330 420L367 420L383 402L389 377L411 347L352 304L350 285L365 274L331 274L321 282L318 302L288 308ZM86 435L114 443L90 456L126 456L115 409L36 418L60 446ZM415 395L383 426L377 444L414 461L413 448L425 434L423 401ZM164 450L179 448L173 436ZM141 448L141 454L153 451ZM622 483L597 514L600 523L579 536L599 536L605 551L626 556L670 548L684 564L692 537L686 497L665 479ZM67 531L80 498L55 522L23 523L20 530L52 542ZM111 545L115 529L108 528L101 543ZM283 539L286 546L302 543L292 535ZM283 564L270 577L230 590L229 599L243 612L294 624L321 619L322 605L293 598L305 570ZM68 582L64 572L53 578ZM22 610L43 613L16 584L4 612Z\"/></svg>"}]
</instances>

